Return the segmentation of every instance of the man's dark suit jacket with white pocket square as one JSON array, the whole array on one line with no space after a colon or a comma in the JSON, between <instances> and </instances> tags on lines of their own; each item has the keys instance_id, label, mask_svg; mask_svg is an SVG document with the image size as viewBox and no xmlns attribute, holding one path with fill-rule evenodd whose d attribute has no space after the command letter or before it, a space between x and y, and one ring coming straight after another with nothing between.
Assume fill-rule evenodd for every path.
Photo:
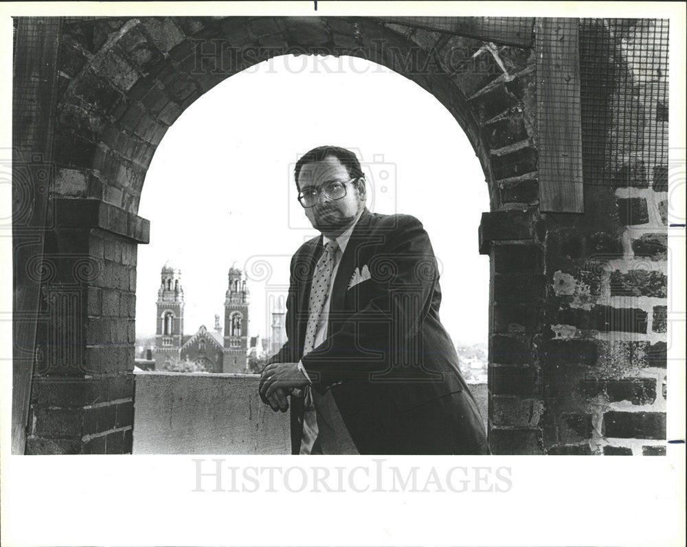
<instances>
[{"instance_id":1,"label":"man's dark suit jacket with white pocket square","mask_svg":"<svg viewBox=\"0 0 687 547\"><path fill-rule=\"evenodd\" d=\"M361 454L487 453L479 410L439 321L438 270L423 225L408 215L363 211L334 280L328 336L303 356L310 286L323 251L322 236L315 237L291 259L288 341L268 364L302 360L313 388L331 389ZM349 288L363 266L371 278ZM291 397L293 454L302 416L302 399Z\"/></svg>"}]
</instances>

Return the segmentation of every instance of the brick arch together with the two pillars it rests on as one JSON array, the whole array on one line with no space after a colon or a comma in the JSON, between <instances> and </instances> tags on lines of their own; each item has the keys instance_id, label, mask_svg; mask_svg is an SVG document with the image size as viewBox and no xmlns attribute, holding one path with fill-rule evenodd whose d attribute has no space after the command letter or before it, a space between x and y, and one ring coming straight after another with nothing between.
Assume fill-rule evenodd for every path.
<instances>
[{"instance_id":1,"label":"brick arch together with the two pillars it rests on","mask_svg":"<svg viewBox=\"0 0 687 547\"><path fill-rule=\"evenodd\" d=\"M148 242L149 230L136 213L153 154L174 120L203 93L257 62L290 53L377 62L429 91L458 121L480 159L496 214L480 227L480 252L490 254L496 264L489 303L490 356L510 355L502 345L512 344L513 336L506 339L501 333L510 332L516 320L498 301L522 281L508 269L499 270L499 257L517 253L524 257L528 275L543 274L541 242L530 227L537 218L539 194L534 54L530 46L498 45L493 36L490 40L496 43L360 17L65 20L53 147L54 246L74 246L74 252L95 257L99 267L82 285L81 323L65 334L82 340L84 355L64 373L84 375L112 401L131 397L136 248ZM497 240L515 242L517 248L492 246ZM528 349L529 336L521 334L515 341ZM541 398L539 373L529 360L496 364L507 364L508 375L529 382L526 398ZM498 381L503 375L493 375L492 367L490 357L490 379ZM36 397L41 382L34 380ZM49 393L56 389L49 386ZM495 389L493 393L501 393ZM490 395L490 423L498 426L504 420L494 413L492 401L497 399ZM536 424L524 432L506 426L490 426L496 453L541 450ZM28 452L41 450L41 439L30 441ZM131 429L95 431L57 450L127 452Z\"/></svg>"}]
</instances>

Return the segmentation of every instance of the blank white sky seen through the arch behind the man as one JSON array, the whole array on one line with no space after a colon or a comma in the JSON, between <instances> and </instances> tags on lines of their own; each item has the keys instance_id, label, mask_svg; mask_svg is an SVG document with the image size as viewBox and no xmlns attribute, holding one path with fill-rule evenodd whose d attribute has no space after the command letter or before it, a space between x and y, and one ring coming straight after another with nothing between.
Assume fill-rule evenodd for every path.
<instances>
[{"instance_id":1,"label":"blank white sky seen through the arch behind the man","mask_svg":"<svg viewBox=\"0 0 687 547\"><path fill-rule=\"evenodd\" d=\"M138 211L150 220L150 244L138 248L137 335L155 333L167 259L181 269L185 334L212 329L214 314L224 321L236 261L253 279L249 333L269 335L269 295L285 292L291 255L317 235L295 199L293 164L322 144L357 152L371 211L423 222L442 268L442 323L454 342L487 341L489 264L477 226L488 191L462 128L390 69L312 56L273 58L228 78L161 141Z\"/></svg>"}]
</instances>

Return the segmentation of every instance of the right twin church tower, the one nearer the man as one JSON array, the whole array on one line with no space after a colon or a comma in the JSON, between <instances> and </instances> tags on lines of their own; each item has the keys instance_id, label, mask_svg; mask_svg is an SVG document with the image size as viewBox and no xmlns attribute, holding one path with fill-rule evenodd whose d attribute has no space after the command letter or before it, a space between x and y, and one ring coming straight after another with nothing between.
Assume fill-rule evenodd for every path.
<instances>
[{"instance_id":1,"label":"right twin church tower, the one nearer the man","mask_svg":"<svg viewBox=\"0 0 687 547\"><path fill-rule=\"evenodd\" d=\"M249 290L245 272L229 268L229 288L224 301L223 372L245 372L248 366Z\"/></svg>"}]
</instances>

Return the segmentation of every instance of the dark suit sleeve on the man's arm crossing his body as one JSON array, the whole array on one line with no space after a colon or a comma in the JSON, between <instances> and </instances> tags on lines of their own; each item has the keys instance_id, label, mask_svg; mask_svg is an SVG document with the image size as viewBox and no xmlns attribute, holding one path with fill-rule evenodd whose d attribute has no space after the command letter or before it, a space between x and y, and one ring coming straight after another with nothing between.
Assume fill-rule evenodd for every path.
<instances>
[{"instance_id":1,"label":"dark suit sleeve on the man's arm crossing his body","mask_svg":"<svg viewBox=\"0 0 687 547\"><path fill-rule=\"evenodd\" d=\"M370 259L367 305L344 321L333 317L328 338L301 360L318 391L421 358L412 340L429 312L438 267L420 221L396 218L398 227Z\"/></svg>"}]
</instances>

